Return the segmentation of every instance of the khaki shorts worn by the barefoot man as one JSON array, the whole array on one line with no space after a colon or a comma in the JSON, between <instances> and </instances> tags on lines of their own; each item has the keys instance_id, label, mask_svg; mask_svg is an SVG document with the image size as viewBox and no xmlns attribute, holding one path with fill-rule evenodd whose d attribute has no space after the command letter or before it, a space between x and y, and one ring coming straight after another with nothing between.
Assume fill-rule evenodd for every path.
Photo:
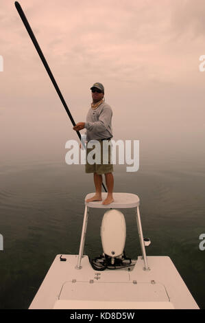
<instances>
[{"instance_id":1,"label":"khaki shorts worn by the barefoot man","mask_svg":"<svg viewBox=\"0 0 205 323\"><path fill-rule=\"evenodd\" d=\"M110 145L108 146L108 149L103 149L103 142L109 142L110 140L97 140L100 143L100 164L94 163L93 165L88 163L87 157L88 153L93 151L95 149L95 146L93 148L86 148L86 172L97 172L98 175L106 174L108 172L113 172L113 165L111 164L111 150ZM104 155L103 155L104 154ZM108 160L108 164L103 163L103 158L105 160ZM95 154L93 155L93 159L95 159Z\"/></svg>"}]
</instances>

